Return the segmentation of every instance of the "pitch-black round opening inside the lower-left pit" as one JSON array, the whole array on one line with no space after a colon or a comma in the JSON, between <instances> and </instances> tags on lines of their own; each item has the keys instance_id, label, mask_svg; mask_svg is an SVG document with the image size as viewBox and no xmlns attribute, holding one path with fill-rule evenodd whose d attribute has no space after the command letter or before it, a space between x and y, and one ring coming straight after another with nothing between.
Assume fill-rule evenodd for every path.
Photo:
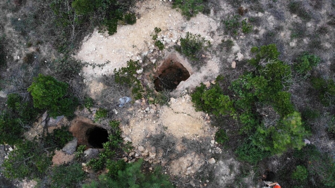
<instances>
[{"instance_id":1,"label":"pitch-black round opening inside the lower-left pit","mask_svg":"<svg viewBox=\"0 0 335 188\"><path fill-rule=\"evenodd\" d=\"M101 127L90 128L86 131L88 143L93 148L103 148L103 143L108 141L108 132Z\"/></svg>"}]
</instances>

